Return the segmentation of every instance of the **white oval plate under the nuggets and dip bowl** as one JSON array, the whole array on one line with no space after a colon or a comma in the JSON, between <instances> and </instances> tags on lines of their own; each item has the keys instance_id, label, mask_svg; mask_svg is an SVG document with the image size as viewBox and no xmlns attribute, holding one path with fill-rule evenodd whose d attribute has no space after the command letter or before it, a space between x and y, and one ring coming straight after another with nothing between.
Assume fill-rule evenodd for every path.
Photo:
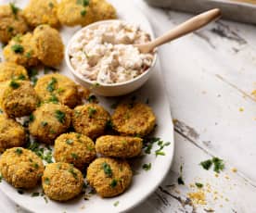
<instances>
[{"instance_id":1,"label":"white oval plate under the nuggets and dip bowl","mask_svg":"<svg viewBox=\"0 0 256 213\"><path fill-rule=\"evenodd\" d=\"M17 4L25 6L27 0L18 0ZM119 17L126 19L129 22L139 24L141 28L152 34L152 29L147 21L147 18L131 4L130 1L109 0L118 10ZM0 0L0 4L6 4L6 0ZM36 12L36 11L35 11ZM65 44L68 43L71 35L77 31L76 28L63 28L61 35ZM65 62L60 67L61 73L73 78ZM160 137L164 142L171 142L165 146L163 152L165 156L155 156L155 150L159 148L154 144L150 155L134 160L133 169L136 171L130 188L120 196L108 199L102 199L96 194L92 195L89 200L84 200L83 196L78 197L68 203L58 203L45 199L42 196L32 197L31 193L18 194L17 189L3 181L0 184L0 189L19 206L24 207L32 212L47 212L47 213L76 213L76 212L124 212L138 205L145 200L149 194L152 194L163 181L168 173L172 161L174 151L173 141L173 120L171 117L168 100L165 96L163 82L160 78L160 64L157 63L154 73L140 90L134 94L130 94L128 98L136 96L137 100L148 102L148 105L153 108L157 116L157 128L153 136ZM117 98L99 97L99 104L109 109L111 112L111 104L117 101ZM142 169L143 164L151 163L151 169L146 171ZM116 205L114 205L116 204ZM117 205L118 204L118 205Z\"/></svg>"}]
</instances>

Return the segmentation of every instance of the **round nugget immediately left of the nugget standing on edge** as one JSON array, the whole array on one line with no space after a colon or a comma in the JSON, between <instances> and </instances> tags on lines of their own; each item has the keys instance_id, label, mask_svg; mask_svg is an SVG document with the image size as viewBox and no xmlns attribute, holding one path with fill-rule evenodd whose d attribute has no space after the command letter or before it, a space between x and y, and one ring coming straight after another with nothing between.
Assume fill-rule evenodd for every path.
<instances>
[{"instance_id":1,"label":"round nugget immediately left of the nugget standing on edge","mask_svg":"<svg viewBox=\"0 0 256 213\"><path fill-rule=\"evenodd\" d=\"M61 134L55 140L54 158L56 162L65 162L83 169L96 157L94 142L87 136L70 132Z\"/></svg>"}]
</instances>

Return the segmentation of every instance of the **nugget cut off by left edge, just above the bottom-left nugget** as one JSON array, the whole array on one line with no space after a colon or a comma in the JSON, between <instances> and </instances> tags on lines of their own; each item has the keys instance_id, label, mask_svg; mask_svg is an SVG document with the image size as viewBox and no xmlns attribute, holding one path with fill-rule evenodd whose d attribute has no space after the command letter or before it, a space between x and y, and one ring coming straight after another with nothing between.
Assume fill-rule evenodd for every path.
<instances>
[{"instance_id":1,"label":"nugget cut off by left edge, just above the bottom-left nugget","mask_svg":"<svg viewBox=\"0 0 256 213\"><path fill-rule=\"evenodd\" d=\"M15 120L0 114L0 152L7 148L22 146L26 142L24 128Z\"/></svg>"}]
</instances>

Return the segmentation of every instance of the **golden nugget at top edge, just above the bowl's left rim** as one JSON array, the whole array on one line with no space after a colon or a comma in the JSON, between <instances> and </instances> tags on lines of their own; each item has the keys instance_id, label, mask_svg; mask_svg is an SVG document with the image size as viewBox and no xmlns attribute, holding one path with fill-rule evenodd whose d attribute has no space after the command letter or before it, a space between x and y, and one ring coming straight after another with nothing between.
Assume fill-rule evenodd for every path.
<instances>
[{"instance_id":1,"label":"golden nugget at top edge, just above the bowl's left rim","mask_svg":"<svg viewBox=\"0 0 256 213\"><path fill-rule=\"evenodd\" d=\"M61 0L58 5L58 19L67 26L88 25L95 21L91 1Z\"/></svg>"}]
</instances>

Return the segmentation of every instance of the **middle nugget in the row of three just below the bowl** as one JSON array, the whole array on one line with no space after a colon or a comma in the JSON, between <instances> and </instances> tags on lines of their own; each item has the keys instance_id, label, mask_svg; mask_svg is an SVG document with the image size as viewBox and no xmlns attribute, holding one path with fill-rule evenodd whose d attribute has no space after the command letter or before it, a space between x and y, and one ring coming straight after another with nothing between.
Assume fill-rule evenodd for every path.
<instances>
[{"instance_id":1,"label":"middle nugget in the row of three just below the bowl","mask_svg":"<svg viewBox=\"0 0 256 213\"><path fill-rule=\"evenodd\" d=\"M75 132L96 138L103 134L110 116L103 107L87 104L75 107L72 115L72 125Z\"/></svg>"}]
</instances>

